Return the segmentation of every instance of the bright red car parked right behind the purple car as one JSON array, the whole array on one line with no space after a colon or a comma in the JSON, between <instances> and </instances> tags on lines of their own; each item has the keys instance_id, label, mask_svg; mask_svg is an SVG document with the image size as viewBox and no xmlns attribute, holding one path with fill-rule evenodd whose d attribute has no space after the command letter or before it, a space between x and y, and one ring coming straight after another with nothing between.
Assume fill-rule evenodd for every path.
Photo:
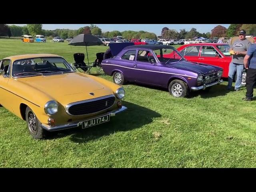
<instances>
[{"instance_id":1,"label":"bright red car parked right behind the purple car","mask_svg":"<svg viewBox=\"0 0 256 192\"><path fill-rule=\"evenodd\" d=\"M223 68L222 77L228 78L228 68L232 60L230 45L225 43L193 43L180 46L177 50L188 61L215 65Z\"/></svg>"}]
</instances>

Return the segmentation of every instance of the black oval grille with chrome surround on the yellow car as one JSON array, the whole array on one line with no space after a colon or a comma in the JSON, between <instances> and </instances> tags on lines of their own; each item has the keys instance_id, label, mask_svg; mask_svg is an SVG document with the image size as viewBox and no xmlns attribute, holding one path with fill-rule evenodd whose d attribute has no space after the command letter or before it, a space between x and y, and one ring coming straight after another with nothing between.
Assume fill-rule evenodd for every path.
<instances>
[{"instance_id":1,"label":"black oval grille with chrome surround on the yellow car","mask_svg":"<svg viewBox=\"0 0 256 192\"><path fill-rule=\"evenodd\" d=\"M96 113L110 108L114 104L115 100L116 98L114 95L108 95L80 102L74 102L66 106L66 112L70 115L86 115Z\"/></svg>"}]
</instances>

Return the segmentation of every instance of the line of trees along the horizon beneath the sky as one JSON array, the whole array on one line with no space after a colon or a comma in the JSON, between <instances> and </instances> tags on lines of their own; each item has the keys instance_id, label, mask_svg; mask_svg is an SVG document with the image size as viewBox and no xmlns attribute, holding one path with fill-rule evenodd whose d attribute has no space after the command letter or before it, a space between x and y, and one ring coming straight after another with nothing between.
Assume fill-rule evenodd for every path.
<instances>
[{"instance_id":1,"label":"line of trees along the horizon beneath the sky","mask_svg":"<svg viewBox=\"0 0 256 192\"><path fill-rule=\"evenodd\" d=\"M162 28L162 38L164 39L191 39L194 37L204 37L204 38L220 38L220 37L233 37L237 36L238 32L244 29L246 30L247 35L256 36L256 24L230 24L228 28L224 26L218 25L214 27L211 32L200 33L196 30L196 28L191 28L190 31L186 31L186 29L180 29L180 32L169 29L167 27ZM84 33L85 30L89 30L90 34L100 35L107 38L113 38L115 36L123 36L126 39L131 38L149 38L149 39L157 39L156 34L146 32L146 31L107 31L102 32L101 28L94 24L90 24L90 26L84 26L77 30L70 29L55 29L55 30L44 30L42 29L42 24L27 24L26 26L16 26L11 25L8 26L6 24L0 24L0 36L22 36L22 35L44 35L47 37L56 37L60 36L63 39L75 37L78 34Z\"/></svg>"}]
</instances>

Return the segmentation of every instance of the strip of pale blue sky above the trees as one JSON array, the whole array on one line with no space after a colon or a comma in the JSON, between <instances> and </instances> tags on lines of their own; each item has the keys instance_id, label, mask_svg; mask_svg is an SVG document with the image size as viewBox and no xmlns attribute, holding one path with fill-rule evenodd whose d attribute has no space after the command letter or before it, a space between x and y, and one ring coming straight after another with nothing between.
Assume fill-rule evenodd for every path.
<instances>
[{"instance_id":1,"label":"strip of pale blue sky above the trees","mask_svg":"<svg viewBox=\"0 0 256 192\"><path fill-rule=\"evenodd\" d=\"M26 24L8 24L8 25L17 25L24 26ZM102 32L118 30L120 32L126 30L132 31L147 31L155 33L159 36L162 32L162 28L168 27L169 29L175 29L180 32L180 29L186 29L190 31L191 28L196 28L200 33L211 32L211 30L217 25L222 25L226 28L230 24L95 24L101 28ZM80 27L90 26L90 24L43 24L43 29L45 30L54 30L54 29L78 29Z\"/></svg>"}]
</instances>

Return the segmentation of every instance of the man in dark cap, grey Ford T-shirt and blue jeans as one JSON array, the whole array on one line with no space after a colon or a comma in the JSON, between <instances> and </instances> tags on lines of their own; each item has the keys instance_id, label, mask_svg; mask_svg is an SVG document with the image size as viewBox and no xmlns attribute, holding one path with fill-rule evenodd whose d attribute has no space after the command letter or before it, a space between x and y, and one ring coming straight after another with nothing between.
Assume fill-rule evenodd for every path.
<instances>
[{"instance_id":1,"label":"man in dark cap, grey Ford T-shirt and blue jeans","mask_svg":"<svg viewBox=\"0 0 256 192\"><path fill-rule=\"evenodd\" d=\"M234 51L232 55L231 63L229 64L228 71L228 86L227 89L230 90L232 87L232 82L234 74L236 73L236 83L235 91L240 90L242 82L242 73L244 69L244 56L246 55L247 49L251 46L251 42L245 38L246 31L240 30L238 40L235 40L230 47L230 50Z\"/></svg>"}]
</instances>

